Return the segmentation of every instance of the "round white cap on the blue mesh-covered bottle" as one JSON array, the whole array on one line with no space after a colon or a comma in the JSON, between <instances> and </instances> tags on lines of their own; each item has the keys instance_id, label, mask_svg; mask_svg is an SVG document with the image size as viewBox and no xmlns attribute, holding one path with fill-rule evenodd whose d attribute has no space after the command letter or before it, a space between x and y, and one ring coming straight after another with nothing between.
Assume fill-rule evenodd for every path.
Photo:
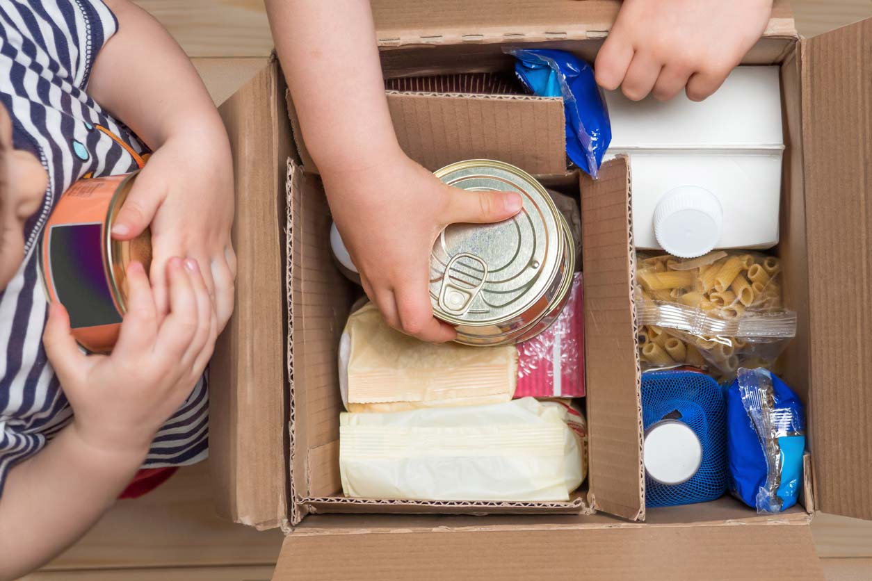
<instances>
[{"instance_id":1,"label":"round white cap on the blue mesh-covered bottle","mask_svg":"<svg viewBox=\"0 0 872 581\"><path fill-rule=\"evenodd\" d=\"M683 422L657 422L645 434L645 471L658 483L680 484L697 473L703 447L693 430Z\"/></svg>"}]
</instances>

